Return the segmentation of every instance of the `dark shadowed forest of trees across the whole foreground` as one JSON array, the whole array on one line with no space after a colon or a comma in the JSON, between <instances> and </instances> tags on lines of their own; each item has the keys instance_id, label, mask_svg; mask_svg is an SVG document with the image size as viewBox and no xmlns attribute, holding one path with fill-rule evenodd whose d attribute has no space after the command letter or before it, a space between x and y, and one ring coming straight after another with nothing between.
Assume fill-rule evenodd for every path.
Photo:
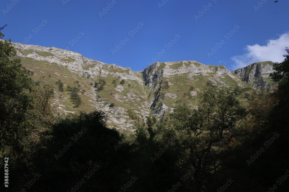
<instances>
[{"instance_id":1,"label":"dark shadowed forest of trees across the whole foreground","mask_svg":"<svg viewBox=\"0 0 289 192\"><path fill-rule=\"evenodd\" d=\"M129 134L107 128L103 111L55 116L53 85L35 83L11 40L1 40L1 188L7 182L5 191L14 192L288 191L286 52L271 74L278 86L253 90L248 107L233 89L207 85L198 108L179 104L161 122L128 110L136 130Z\"/></svg>"}]
</instances>

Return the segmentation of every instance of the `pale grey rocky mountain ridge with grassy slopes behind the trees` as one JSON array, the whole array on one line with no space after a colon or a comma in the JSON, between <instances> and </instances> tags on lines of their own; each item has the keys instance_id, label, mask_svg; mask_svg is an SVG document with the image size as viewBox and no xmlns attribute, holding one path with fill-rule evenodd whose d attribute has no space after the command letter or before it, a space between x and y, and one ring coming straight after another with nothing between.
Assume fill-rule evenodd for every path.
<instances>
[{"instance_id":1,"label":"pale grey rocky mountain ridge with grassy slopes behind the trees","mask_svg":"<svg viewBox=\"0 0 289 192\"><path fill-rule=\"evenodd\" d=\"M13 43L17 57L31 72L36 83L54 84L53 104L58 113L101 109L108 114L108 126L133 131L127 110L134 109L144 119L148 115L165 117L177 104L196 107L197 93L204 86L231 86L240 93L262 85L270 86L272 62L254 63L230 72L223 65L204 65L197 61L155 62L142 71L131 71L83 57L79 53L56 47ZM58 85L63 83L63 91ZM79 107L71 102L76 87L81 99ZM242 100L244 94L239 97Z\"/></svg>"}]
</instances>

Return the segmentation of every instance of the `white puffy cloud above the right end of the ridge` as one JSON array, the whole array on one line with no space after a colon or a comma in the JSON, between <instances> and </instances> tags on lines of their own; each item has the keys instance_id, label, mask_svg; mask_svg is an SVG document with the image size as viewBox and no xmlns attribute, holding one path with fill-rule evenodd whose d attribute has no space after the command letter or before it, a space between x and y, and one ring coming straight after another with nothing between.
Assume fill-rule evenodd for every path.
<instances>
[{"instance_id":1,"label":"white puffy cloud above the right end of the ridge","mask_svg":"<svg viewBox=\"0 0 289 192\"><path fill-rule=\"evenodd\" d=\"M267 40L266 45L247 45L245 54L231 57L235 69L242 68L254 62L273 61L283 62L283 55L286 54L285 47L289 47L289 32L278 35L279 39Z\"/></svg>"}]
</instances>

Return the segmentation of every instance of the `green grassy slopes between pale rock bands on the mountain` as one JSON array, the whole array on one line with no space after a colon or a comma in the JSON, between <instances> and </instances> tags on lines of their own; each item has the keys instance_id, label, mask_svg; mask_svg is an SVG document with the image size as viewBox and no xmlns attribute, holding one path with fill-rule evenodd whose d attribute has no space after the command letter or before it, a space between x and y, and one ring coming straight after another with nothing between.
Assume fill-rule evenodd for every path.
<instances>
[{"instance_id":1,"label":"green grassy slopes between pale rock bands on the mountain","mask_svg":"<svg viewBox=\"0 0 289 192\"><path fill-rule=\"evenodd\" d=\"M32 50L18 50L22 54L30 54L33 51ZM40 56L52 56L49 52L36 52ZM60 58L63 62L72 62L74 61L73 58ZM140 84L136 80L125 80L125 83L123 85L120 84L120 80L118 79L116 73L129 73L129 70L123 70L119 68L109 68L108 66L104 66L101 71L108 71L113 72L115 75L108 76L108 77L97 77L95 79L93 78L87 78L84 75L79 75L78 73L72 73L69 71L65 66L61 67L58 66L56 63L49 63L46 61L37 61L32 58L23 58L22 64L24 67L26 67L29 70L34 71L34 75L31 76L32 79L35 81L46 81L48 83L51 83L54 85L54 91L56 93L55 100L58 100L59 104L63 105L62 107L66 111L86 111L90 112L94 110L94 107L92 105L94 104L92 102L99 102L99 104L108 106L111 103L114 103L116 107L123 107L125 110L127 109L135 109L136 111L143 110L143 103L144 102L150 102L153 97L156 95L155 93L158 93L158 89L160 88L160 81L168 81L169 82L169 88L162 88L160 90L160 93L163 94L163 98L157 101L157 104L155 105L153 111L158 107L160 103L166 104L168 107L175 107L176 104L182 104L186 103L191 106L197 106L197 96L189 96L190 92L198 92L199 90L202 90L204 86L206 86L206 82L210 81L209 78L213 77L214 73L208 73L208 75L196 75L193 77L189 77L189 74L182 74L182 75L172 75L170 77L163 78L157 82L155 82L155 88L151 91L147 86L143 84ZM186 67L190 66L191 64L194 64L195 66L200 66L201 64L198 62L180 62L174 65L169 66L171 69L179 68L182 65L185 65ZM95 64L92 64L90 66L83 66L83 69L88 70L92 68ZM165 67L164 63L161 63L157 70L161 70ZM223 69L224 66L208 66L213 71L216 71L218 68ZM50 76L50 77L49 77ZM142 77L138 75L141 79ZM96 92L93 87L94 82L98 82L99 79L103 79L106 81L104 85L104 90L101 90L99 92ZM55 84L55 81L61 80L62 83L64 83L64 92L58 91L58 85ZM75 81L78 80L79 83L75 83ZM112 83L112 80L116 80L116 84ZM223 83L226 86L231 86L232 88L235 88L238 84L234 79L232 79L229 76L226 76L222 79ZM90 85L90 83L93 83L93 85ZM240 83L240 82L239 82ZM242 84L242 83L241 83ZM81 100L83 104L79 108L73 108L73 104L71 103L69 99L69 94L66 91L66 87L70 85L71 87L77 87L77 85L80 85L78 87L80 89L79 96L81 97ZM217 85L221 85L221 83L218 82ZM189 88L193 86L194 90L189 90ZM244 87L247 87L243 83ZM177 98L172 98L168 96L169 93L177 94ZM244 94L244 93L243 93ZM239 98L242 101L243 104L246 104L246 99L242 99L243 94L239 96ZM118 98L118 99L117 99ZM121 100L121 101L120 101ZM112 108L111 108L112 109ZM151 111L152 112L152 111ZM169 112L169 111L168 111ZM168 114L168 113L166 113ZM127 119L128 120L128 119ZM115 126L114 123L112 123L112 126Z\"/></svg>"}]
</instances>

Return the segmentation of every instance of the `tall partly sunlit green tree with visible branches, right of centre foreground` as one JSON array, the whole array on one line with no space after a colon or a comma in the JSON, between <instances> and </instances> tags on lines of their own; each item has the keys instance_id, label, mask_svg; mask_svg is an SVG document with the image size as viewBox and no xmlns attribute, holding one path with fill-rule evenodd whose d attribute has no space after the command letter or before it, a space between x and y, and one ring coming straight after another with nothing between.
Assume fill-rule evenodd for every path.
<instances>
[{"instance_id":1,"label":"tall partly sunlit green tree with visible branches, right of centre foreground","mask_svg":"<svg viewBox=\"0 0 289 192\"><path fill-rule=\"evenodd\" d=\"M200 93L198 109L178 105L170 115L168 127L163 132L179 138L177 151L187 151L179 156L184 167L196 168L188 178L192 191L202 191L205 183L210 182L212 174L217 173L225 162L226 146L233 137L237 121L244 110L229 88L207 87ZM218 154L218 155L216 155Z\"/></svg>"}]
</instances>

